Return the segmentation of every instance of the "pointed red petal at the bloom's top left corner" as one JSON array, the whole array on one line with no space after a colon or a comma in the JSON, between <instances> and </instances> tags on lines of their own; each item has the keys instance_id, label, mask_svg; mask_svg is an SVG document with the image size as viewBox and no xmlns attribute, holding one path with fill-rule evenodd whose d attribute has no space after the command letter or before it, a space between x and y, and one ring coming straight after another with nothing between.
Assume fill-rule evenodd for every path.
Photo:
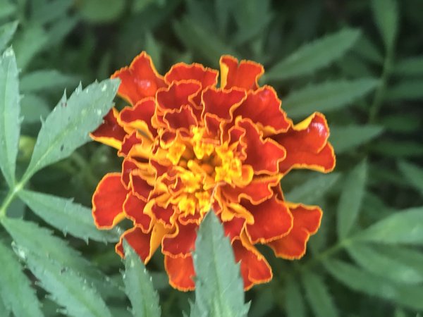
<instances>
[{"instance_id":1,"label":"pointed red petal at the bloom's top left corner","mask_svg":"<svg viewBox=\"0 0 423 317\"><path fill-rule=\"evenodd\" d=\"M135 105L145 97L153 97L166 84L154 68L152 58L145 51L134 58L129 67L116 71L111 78L120 78L119 96Z\"/></svg>"}]
</instances>

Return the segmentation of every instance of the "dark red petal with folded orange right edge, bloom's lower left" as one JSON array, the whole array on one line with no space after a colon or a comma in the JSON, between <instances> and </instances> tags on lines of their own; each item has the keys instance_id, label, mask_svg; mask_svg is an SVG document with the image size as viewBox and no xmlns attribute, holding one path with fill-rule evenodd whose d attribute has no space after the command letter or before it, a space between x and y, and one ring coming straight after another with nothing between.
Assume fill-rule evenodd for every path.
<instances>
[{"instance_id":1,"label":"dark red petal with folded orange right edge, bloom's lower left","mask_svg":"<svg viewBox=\"0 0 423 317\"><path fill-rule=\"evenodd\" d=\"M166 230L159 223L147 233L142 232L140 227L131 228L123 233L121 240L116 244L116 253L122 257L125 255L123 251L123 239L125 239L142 261L147 263L159 247L164 235L166 235Z\"/></svg>"}]
</instances>

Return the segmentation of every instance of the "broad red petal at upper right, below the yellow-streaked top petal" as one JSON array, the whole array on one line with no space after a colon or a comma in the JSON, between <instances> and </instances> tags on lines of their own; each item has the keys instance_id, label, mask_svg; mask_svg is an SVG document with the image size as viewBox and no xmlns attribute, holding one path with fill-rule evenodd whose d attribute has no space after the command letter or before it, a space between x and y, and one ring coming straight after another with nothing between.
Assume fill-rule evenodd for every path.
<instances>
[{"instance_id":1,"label":"broad red petal at upper right, below the yellow-streaked top petal","mask_svg":"<svg viewBox=\"0 0 423 317\"><path fill-rule=\"evenodd\" d=\"M250 118L261 125L265 134L286 132L291 125L286 113L281 110L281 100L270 86L248 92L247 99L233 113L234 118L237 116Z\"/></svg>"}]
</instances>

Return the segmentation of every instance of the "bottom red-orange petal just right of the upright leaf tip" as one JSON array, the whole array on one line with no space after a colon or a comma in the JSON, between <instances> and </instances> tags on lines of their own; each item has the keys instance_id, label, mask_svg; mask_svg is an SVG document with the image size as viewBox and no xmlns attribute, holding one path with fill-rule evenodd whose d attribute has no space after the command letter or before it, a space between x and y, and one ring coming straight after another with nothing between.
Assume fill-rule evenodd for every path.
<instances>
[{"instance_id":1,"label":"bottom red-orange petal just right of the upright leaf tip","mask_svg":"<svg viewBox=\"0 0 423 317\"><path fill-rule=\"evenodd\" d=\"M244 280L244 290L259 283L269 282L273 277L271 267L264 256L250 244L248 238L241 235L240 240L232 242L235 261L240 262L241 276Z\"/></svg>"}]
</instances>

